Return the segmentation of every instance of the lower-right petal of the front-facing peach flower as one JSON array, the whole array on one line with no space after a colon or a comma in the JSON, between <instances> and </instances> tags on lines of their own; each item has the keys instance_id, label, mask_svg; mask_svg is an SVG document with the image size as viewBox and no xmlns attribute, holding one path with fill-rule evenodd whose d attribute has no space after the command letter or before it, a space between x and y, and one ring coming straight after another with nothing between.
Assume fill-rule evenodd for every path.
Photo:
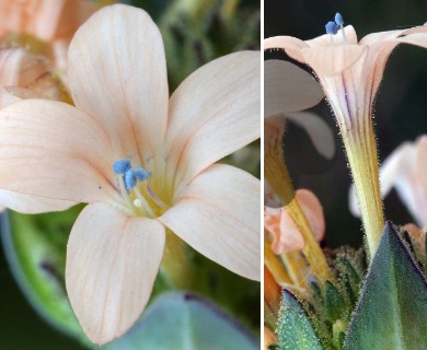
<instances>
[{"instance_id":1,"label":"lower-right petal of the front-facing peach flower","mask_svg":"<svg viewBox=\"0 0 427 350\"><path fill-rule=\"evenodd\" d=\"M261 279L261 184L214 164L159 220L193 248L243 277Z\"/></svg>"}]
</instances>

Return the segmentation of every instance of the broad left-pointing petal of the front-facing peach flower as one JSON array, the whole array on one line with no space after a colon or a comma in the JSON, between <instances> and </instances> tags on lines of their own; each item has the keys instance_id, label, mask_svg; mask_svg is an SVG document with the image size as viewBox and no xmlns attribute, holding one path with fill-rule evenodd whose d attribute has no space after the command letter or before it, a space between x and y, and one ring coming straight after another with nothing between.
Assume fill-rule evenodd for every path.
<instances>
[{"instance_id":1,"label":"broad left-pointing petal of the front-facing peach flower","mask_svg":"<svg viewBox=\"0 0 427 350\"><path fill-rule=\"evenodd\" d=\"M1 189L74 202L113 200L112 152L100 122L65 103L25 100L0 110Z\"/></svg>"}]
</instances>

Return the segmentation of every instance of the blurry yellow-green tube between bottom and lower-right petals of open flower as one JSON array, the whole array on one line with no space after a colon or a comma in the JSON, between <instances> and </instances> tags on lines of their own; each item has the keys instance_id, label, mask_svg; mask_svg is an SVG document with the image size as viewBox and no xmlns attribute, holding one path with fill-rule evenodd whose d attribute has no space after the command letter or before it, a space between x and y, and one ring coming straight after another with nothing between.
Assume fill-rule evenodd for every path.
<instances>
[{"instance_id":1,"label":"blurry yellow-green tube between bottom and lower-right petals of open flower","mask_svg":"<svg viewBox=\"0 0 427 350\"><path fill-rule=\"evenodd\" d=\"M188 289L193 285L194 270L187 245L169 229L160 271L174 288Z\"/></svg>"}]
</instances>

